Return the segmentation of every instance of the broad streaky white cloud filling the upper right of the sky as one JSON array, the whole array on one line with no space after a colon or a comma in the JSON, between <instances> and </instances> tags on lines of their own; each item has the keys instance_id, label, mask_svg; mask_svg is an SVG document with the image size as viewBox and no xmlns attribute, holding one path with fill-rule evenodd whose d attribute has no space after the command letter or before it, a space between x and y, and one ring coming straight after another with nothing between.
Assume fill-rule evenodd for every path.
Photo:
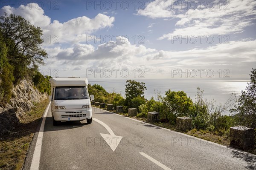
<instances>
[{"instance_id":1,"label":"broad streaky white cloud filling the upper right of the sky","mask_svg":"<svg viewBox=\"0 0 256 170\"><path fill-rule=\"evenodd\" d=\"M207 1L203 3L201 1L194 9L189 1L155 0L148 3L144 10L138 10L137 14L150 18L165 18L165 20L179 19L175 24L175 30L159 37L159 40L172 40L173 35L207 36L241 33L245 27L255 24L253 22L256 18L256 1L233 0L228 1L230 4L221 1L221 6L219 2L211 1L212 8Z\"/></svg>"}]
</instances>

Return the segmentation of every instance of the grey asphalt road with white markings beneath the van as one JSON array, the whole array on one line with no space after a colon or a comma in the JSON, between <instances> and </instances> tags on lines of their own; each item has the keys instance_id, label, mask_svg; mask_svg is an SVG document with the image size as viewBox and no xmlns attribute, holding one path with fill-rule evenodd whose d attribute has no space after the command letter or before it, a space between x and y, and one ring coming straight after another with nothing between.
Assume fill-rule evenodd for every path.
<instances>
[{"instance_id":1,"label":"grey asphalt road with white markings beneath the van","mask_svg":"<svg viewBox=\"0 0 256 170\"><path fill-rule=\"evenodd\" d=\"M65 122L54 127L48 111L44 129L41 129L43 137L35 133L23 169L37 167L32 164L36 154L40 156L40 170L256 169L256 156L250 153L102 109L93 108L93 118L92 124L87 124L86 121ZM118 138L108 138L106 141L102 138L101 134L111 134L108 127L118 138L122 137L118 145ZM108 145L110 142L116 146L114 151Z\"/></svg>"}]
</instances>

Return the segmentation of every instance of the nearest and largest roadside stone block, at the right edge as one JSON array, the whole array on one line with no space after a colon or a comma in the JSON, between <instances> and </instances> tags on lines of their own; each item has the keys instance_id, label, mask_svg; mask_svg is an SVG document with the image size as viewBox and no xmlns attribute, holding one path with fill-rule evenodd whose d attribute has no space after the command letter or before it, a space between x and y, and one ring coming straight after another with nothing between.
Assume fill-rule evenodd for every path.
<instances>
[{"instance_id":1,"label":"nearest and largest roadside stone block, at the right edge","mask_svg":"<svg viewBox=\"0 0 256 170\"><path fill-rule=\"evenodd\" d=\"M254 146L254 130L250 127L230 127L230 145L245 149Z\"/></svg>"}]
</instances>

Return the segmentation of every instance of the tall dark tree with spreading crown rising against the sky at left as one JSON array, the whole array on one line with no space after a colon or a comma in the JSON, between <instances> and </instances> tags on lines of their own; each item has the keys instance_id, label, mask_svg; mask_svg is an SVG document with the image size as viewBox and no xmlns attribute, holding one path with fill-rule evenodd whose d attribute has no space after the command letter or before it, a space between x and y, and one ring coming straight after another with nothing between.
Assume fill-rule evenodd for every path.
<instances>
[{"instance_id":1,"label":"tall dark tree with spreading crown rising against the sky at left","mask_svg":"<svg viewBox=\"0 0 256 170\"><path fill-rule=\"evenodd\" d=\"M0 17L0 34L8 49L8 62L15 69L15 83L24 77L29 66L44 64L47 52L41 48L42 32L21 16L5 13Z\"/></svg>"}]
</instances>

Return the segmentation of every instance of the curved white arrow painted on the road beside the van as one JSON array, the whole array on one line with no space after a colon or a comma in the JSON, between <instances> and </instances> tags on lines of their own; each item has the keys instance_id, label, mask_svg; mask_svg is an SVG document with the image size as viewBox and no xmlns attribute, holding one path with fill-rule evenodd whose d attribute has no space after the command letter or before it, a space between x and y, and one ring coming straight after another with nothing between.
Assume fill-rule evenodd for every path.
<instances>
[{"instance_id":1,"label":"curved white arrow painted on the road beside the van","mask_svg":"<svg viewBox=\"0 0 256 170\"><path fill-rule=\"evenodd\" d=\"M106 130L108 130L108 133L110 133L110 135L108 134L103 134L100 133L100 135L102 136L102 138L106 141L106 143L108 144L108 146L113 150L113 152L116 150L116 147L118 146L118 144L120 143L122 136L116 136L113 131L110 129L110 127L108 127L108 125L106 125L104 122L93 118L94 121L98 122L99 124L101 124L102 126L105 127Z\"/></svg>"}]
</instances>

